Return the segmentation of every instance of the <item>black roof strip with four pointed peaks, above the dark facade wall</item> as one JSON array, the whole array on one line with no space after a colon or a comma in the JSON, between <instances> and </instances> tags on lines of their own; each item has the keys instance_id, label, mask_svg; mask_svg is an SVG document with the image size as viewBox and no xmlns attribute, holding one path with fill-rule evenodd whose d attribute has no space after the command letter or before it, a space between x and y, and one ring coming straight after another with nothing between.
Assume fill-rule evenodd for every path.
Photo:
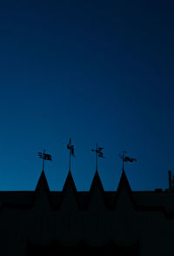
<instances>
[{"instance_id":1,"label":"black roof strip with four pointed peaks, above the dark facade wall","mask_svg":"<svg viewBox=\"0 0 174 256\"><path fill-rule=\"evenodd\" d=\"M41 197L49 202L53 211L58 211L64 204L65 198L71 196L77 203L79 210L87 211L95 194L97 194L97 202L100 198L100 204L103 204L107 211L114 211L118 207L119 199L124 197L121 200L126 201L126 197L137 211L160 211L164 213L166 218L174 217L174 193L163 191L132 192L124 170L117 191L104 191L102 181L96 172L90 191L78 192L72 174L68 172L63 191L51 192L45 174L42 172L35 191L0 192L0 202L1 209L3 207L29 209L36 205L37 199Z\"/></svg>"}]
</instances>

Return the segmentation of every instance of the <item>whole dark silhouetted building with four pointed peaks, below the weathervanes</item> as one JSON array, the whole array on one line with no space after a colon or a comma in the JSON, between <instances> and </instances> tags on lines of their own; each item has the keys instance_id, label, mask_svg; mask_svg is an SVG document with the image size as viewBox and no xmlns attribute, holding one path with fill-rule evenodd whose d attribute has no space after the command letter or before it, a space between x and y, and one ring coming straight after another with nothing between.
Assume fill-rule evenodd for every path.
<instances>
[{"instance_id":1,"label":"whole dark silhouetted building with four pointed peaks, below the weathervanes","mask_svg":"<svg viewBox=\"0 0 174 256\"><path fill-rule=\"evenodd\" d=\"M98 173L77 192L71 173L50 192L42 172L35 191L0 192L1 255L174 255L174 193L132 192L125 172L117 191Z\"/></svg>"}]
</instances>

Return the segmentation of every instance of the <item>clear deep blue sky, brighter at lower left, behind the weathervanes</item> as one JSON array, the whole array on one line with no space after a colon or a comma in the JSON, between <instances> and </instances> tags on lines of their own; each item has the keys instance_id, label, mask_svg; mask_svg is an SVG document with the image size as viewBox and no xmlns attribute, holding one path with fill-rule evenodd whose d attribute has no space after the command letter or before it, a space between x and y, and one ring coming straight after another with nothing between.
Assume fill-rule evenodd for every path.
<instances>
[{"instance_id":1,"label":"clear deep blue sky, brighter at lower left, behind the weathervanes","mask_svg":"<svg viewBox=\"0 0 174 256\"><path fill-rule=\"evenodd\" d=\"M174 171L173 1L0 1L0 190L34 190L46 148L50 190L98 172L117 190L127 150L132 190L168 187Z\"/></svg>"}]
</instances>

